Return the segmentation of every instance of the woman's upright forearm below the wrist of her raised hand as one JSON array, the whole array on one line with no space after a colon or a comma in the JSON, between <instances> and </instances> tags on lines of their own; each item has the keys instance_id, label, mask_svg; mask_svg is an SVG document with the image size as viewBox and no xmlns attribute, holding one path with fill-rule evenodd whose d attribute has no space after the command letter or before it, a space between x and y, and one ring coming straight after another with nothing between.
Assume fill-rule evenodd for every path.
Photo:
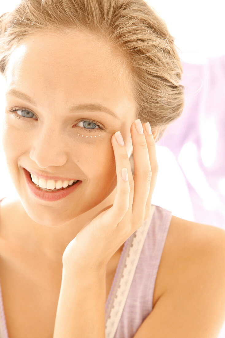
<instances>
[{"instance_id":1,"label":"woman's upright forearm below the wrist of her raised hand","mask_svg":"<svg viewBox=\"0 0 225 338\"><path fill-rule=\"evenodd\" d=\"M105 338L105 276L63 270L53 338Z\"/></svg>"}]
</instances>

